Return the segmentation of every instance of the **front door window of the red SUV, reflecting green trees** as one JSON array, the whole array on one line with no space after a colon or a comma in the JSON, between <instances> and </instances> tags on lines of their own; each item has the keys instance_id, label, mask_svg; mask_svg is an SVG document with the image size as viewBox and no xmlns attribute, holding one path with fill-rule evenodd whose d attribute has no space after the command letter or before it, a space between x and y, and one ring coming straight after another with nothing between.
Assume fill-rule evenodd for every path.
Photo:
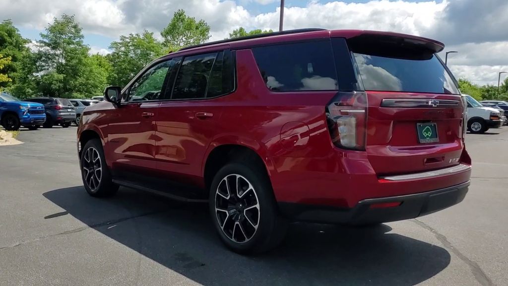
<instances>
[{"instance_id":1,"label":"front door window of the red SUV, reflecting green trees","mask_svg":"<svg viewBox=\"0 0 508 286\"><path fill-rule=\"evenodd\" d=\"M157 64L140 76L129 88L125 101L159 100L166 74L173 61Z\"/></svg>"}]
</instances>

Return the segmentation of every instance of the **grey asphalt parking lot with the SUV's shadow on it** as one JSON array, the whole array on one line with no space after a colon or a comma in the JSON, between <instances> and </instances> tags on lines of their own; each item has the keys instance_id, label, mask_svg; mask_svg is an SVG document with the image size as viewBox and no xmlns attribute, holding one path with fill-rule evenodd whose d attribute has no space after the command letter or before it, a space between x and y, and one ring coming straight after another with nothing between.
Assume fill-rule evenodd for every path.
<instances>
[{"instance_id":1,"label":"grey asphalt parking lot with the SUV's shadow on it","mask_svg":"<svg viewBox=\"0 0 508 286\"><path fill-rule=\"evenodd\" d=\"M256 257L226 250L204 205L88 196L75 134L0 147L0 285L508 285L508 127L467 135L461 204L375 228L296 223Z\"/></svg>"}]
</instances>

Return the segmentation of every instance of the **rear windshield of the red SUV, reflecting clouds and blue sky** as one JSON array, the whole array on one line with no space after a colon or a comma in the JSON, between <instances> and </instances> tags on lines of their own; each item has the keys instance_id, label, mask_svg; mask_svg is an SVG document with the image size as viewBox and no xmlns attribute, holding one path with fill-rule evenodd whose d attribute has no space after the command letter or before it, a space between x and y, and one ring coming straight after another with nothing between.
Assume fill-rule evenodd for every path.
<instances>
[{"instance_id":1,"label":"rear windshield of the red SUV, reflecting clouds and blue sky","mask_svg":"<svg viewBox=\"0 0 508 286\"><path fill-rule=\"evenodd\" d=\"M354 55L365 90L459 94L452 77L434 54Z\"/></svg>"}]
</instances>

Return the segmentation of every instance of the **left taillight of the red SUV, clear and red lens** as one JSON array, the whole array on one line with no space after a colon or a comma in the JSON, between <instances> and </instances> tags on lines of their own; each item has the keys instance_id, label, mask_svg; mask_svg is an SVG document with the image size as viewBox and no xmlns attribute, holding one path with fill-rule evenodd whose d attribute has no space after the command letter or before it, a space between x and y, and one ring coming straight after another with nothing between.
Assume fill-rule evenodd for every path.
<instances>
[{"instance_id":1,"label":"left taillight of the red SUV, clear and red lens","mask_svg":"<svg viewBox=\"0 0 508 286\"><path fill-rule=\"evenodd\" d=\"M335 146L365 150L367 139L367 94L339 92L326 107L328 130Z\"/></svg>"}]
</instances>

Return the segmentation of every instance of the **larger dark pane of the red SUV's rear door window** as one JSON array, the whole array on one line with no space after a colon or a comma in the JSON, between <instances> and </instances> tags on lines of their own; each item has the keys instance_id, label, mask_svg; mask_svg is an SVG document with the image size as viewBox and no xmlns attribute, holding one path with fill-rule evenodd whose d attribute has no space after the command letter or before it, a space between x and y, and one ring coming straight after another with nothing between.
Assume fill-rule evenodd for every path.
<instances>
[{"instance_id":1,"label":"larger dark pane of the red SUV's rear door window","mask_svg":"<svg viewBox=\"0 0 508 286\"><path fill-rule=\"evenodd\" d=\"M172 99L204 98L217 53L187 56L176 75Z\"/></svg>"}]
</instances>

